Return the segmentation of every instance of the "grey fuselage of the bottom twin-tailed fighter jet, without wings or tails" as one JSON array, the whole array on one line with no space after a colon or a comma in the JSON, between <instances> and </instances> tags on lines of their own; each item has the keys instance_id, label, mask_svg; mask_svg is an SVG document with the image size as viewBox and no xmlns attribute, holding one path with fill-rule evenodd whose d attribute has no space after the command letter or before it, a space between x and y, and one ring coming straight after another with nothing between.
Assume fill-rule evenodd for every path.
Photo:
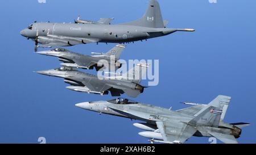
<instances>
[{"instance_id":1,"label":"grey fuselage of the bottom twin-tailed fighter jet, without wings or tails","mask_svg":"<svg viewBox=\"0 0 256 155\"><path fill-rule=\"evenodd\" d=\"M114 100L110 101L97 101L97 102L84 102L76 104L77 107L83 108L89 111L100 112L103 114L121 116L134 120L141 120L147 124L154 125L158 121L168 122L183 122L188 123L195 116L184 114L179 111L169 110L167 108L152 106L151 104L133 103L133 104L117 104ZM193 136L198 137L212 137L210 132L217 132L232 135L236 132L235 129L222 128L222 127L210 127L207 125L197 125L197 132ZM161 137L160 133L156 132L158 137ZM241 134L238 133L238 135ZM160 138L162 140L162 138Z\"/></svg>"}]
</instances>

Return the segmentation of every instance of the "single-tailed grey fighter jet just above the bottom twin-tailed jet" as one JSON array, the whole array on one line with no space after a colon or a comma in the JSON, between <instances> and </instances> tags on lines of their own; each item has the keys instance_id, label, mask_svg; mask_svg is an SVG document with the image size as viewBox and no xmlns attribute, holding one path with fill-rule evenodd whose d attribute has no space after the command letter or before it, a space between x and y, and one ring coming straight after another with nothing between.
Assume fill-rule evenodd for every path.
<instances>
[{"instance_id":1,"label":"single-tailed grey fighter jet just above the bottom twin-tailed jet","mask_svg":"<svg viewBox=\"0 0 256 155\"><path fill-rule=\"evenodd\" d=\"M129 97L135 98L144 91L145 87L140 83L147 67L148 64L137 64L125 74L117 74L110 77L94 76L79 72L71 67L42 70L37 73L64 78L64 82L71 85L66 87L70 90L100 95L107 95L110 91L112 96L120 96L126 93Z\"/></svg>"}]
</instances>

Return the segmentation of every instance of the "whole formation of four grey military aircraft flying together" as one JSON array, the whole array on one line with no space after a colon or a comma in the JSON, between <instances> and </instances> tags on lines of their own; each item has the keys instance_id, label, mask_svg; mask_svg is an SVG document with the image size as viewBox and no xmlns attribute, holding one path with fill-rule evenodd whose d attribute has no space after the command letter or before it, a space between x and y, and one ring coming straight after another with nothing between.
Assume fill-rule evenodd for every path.
<instances>
[{"instance_id":1,"label":"whole formation of four grey military aircraft flying together","mask_svg":"<svg viewBox=\"0 0 256 155\"><path fill-rule=\"evenodd\" d=\"M193 29L167 28L168 21L163 20L158 1L150 0L145 14L133 22L112 25L113 18L101 18L97 22L81 20L80 16L74 23L38 23L34 22L20 31L20 35L35 42L35 52L40 55L57 57L60 68L38 71L46 76L60 77L70 86L66 88L89 94L119 97L112 100L83 102L76 104L85 110L124 118L141 120L134 123L143 129L139 135L150 139L151 143L184 143L192 136L216 137L224 143L237 143L241 128L249 123L224 123L230 97L218 95L209 104L188 103L191 107L181 110L171 110L135 102L121 98L122 94L136 98L144 92L147 86L141 81L148 64L139 63L127 73L114 73L114 76L99 77L81 72L79 69L121 68L119 62L121 53L127 43L143 41L154 37L170 35L177 31L193 32ZM117 43L106 53L81 55L60 47L88 43ZM53 48L48 51L38 51L38 48ZM113 74L113 73L110 73Z\"/></svg>"}]
</instances>

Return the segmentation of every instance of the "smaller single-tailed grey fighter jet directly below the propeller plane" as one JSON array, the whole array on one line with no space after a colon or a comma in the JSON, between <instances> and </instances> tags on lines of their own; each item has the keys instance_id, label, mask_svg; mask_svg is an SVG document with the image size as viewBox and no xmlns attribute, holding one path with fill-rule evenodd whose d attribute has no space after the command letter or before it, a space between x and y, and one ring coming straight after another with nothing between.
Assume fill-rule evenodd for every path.
<instances>
[{"instance_id":1,"label":"smaller single-tailed grey fighter jet directly below the propeller plane","mask_svg":"<svg viewBox=\"0 0 256 155\"><path fill-rule=\"evenodd\" d=\"M81 69L96 68L96 70L98 71L103 67L98 66L98 63L100 63L101 60L106 60L109 62L109 69L111 68L110 65L113 65L115 70L120 68L121 63L118 62L118 60L123 49L125 49L125 45L118 44L115 45L114 48L110 49L110 51L107 53L92 52L92 56L81 55L79 53L71 52L63 48L55 48L50 51L41 51L37 53L40 55L58 57L60 61L64 62L63 64L61 64L62 66L69 66Z\"/></svg>"}]
</instances>

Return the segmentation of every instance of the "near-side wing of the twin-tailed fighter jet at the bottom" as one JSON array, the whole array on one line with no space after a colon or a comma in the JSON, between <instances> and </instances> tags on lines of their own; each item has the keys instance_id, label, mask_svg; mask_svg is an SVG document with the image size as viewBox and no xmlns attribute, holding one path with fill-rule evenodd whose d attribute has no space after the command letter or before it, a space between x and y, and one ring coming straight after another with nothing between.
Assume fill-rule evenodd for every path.
<instances>
[{"instance_id":1,"label":"near-side wing of the twin-tailed fighter jet at the bottom","mask_svg":"<svg viewBox=\"0 0 256 155\"><path fill-rule=\"evenodd\" d=\"M197 131L182 122L156 122L156 125L166 143L184 143Z\"/></svg>"}]
</instances>

